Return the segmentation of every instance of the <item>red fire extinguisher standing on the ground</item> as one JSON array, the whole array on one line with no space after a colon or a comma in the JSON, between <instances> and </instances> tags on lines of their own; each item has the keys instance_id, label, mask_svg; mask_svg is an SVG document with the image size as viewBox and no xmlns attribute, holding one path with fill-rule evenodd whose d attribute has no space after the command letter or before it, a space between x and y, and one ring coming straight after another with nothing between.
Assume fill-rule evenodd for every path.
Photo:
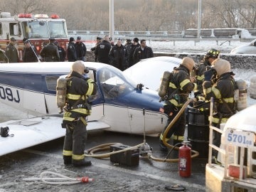
<instances>
[{"instance_id":1,"label":"red fire extinguisher standing on the ground","mask_svg":"<svg viewBox=\"0 0 256 192\"><path fill-rule=\"evenodd\" d=\"M191 176L191 148L186 141L182 144L178 150L178 171L180 176L188 177Z\"/></svg>"}]
</instances>

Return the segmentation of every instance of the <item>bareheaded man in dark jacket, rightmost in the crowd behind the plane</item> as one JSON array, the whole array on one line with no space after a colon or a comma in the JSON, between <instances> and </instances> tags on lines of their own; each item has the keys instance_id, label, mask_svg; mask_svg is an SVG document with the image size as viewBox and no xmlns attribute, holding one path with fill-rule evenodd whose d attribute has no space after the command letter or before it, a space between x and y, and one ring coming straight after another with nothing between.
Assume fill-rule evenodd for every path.
<instances>
[{"instance_id":1,"label":"bareheaded man in dark jacket, rightmost in the crowd behind the plane","mask_svg":"<svg viewBox=\"0 0 256 192\"><path fill-rule=\"evenodd\" d=\"M133 56L134 64L138 63L139 60L154 57L153 50L150 47L146 46L146 40L142 39L140 43L141 43L140 47L134 50L134 56Z\"/></svg>"}]
</instances>

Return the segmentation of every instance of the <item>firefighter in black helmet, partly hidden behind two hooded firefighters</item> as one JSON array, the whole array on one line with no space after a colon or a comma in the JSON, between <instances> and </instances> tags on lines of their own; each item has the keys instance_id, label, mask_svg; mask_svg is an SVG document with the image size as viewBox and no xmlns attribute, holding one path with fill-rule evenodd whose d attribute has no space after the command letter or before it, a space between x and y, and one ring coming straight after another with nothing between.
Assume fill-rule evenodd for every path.
<instances>
[{"instance_id":1,"label":"firefighter in black helmet, partly hidden behind two hooded firefighters","mask_svg":"<svg viewBox=\"0 0 256 192\"><path fill-rule=\"evenodd\" d=\"M195 68L194 70L196 73L195 78L196 78L196 83L198 85L197 90L195 90L194 92L195 97L203 95L203 87L202 87L203 79L204 79L203 73L206 70L208 70L208 68L210 68L211 63L213 63L213 60L218 58L219 55L220 55L219 50L215 50L214 48L211 48L210 50L208 50L203 60L201 60L201 63L199 63L199 65Z\"/></svg>"}]
</instances>

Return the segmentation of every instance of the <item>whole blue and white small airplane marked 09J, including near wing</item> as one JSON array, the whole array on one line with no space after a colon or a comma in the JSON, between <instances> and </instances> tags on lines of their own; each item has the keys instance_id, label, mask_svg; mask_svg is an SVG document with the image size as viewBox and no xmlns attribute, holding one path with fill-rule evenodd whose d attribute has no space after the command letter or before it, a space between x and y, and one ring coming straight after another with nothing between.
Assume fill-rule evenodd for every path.
<instances>
[{"instance_id":1,"label":"whole blue and white small airplane marked 09J, including near wing","mask_svg":"<svg viewBox=\"0 0 256 192\"><path fill-rule=\"evenodd\" d=\"M1 63L0 102L36 117L0 123L9 135L0 137L0 156L65 135L56 105L57 79L73 63ZM142 88L122 71L103 63L85 62L87 75L97 82L87 130L106 129L129 134L159 134L167 117L155 90ZM7 128L6 128L7 127Z\"/></svg>"}]
</instances>

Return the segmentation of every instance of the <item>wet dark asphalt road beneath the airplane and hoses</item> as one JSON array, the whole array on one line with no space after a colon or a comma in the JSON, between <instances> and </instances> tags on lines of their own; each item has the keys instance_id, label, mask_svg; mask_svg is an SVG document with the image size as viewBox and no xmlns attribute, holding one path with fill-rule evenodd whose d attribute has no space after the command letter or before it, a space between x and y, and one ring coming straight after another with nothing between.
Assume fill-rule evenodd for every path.
<instances>
[{"instance_id":1,"label":"wet dark asphalt road beneath the airplane and hoses","mask_svg":"<svg viewBox=\"0 0 256 192\"><path fill-rule=\"evenodd\" d=\"M86 148L90 149L93 146L109 143L135 146L143 141L144 137L139 135L93 131L88 134ZM159 151L157 137L146 137L146 143L153 148L153 156L166 157L166 152ZM206 159L192 159L191 176L182 178L178 174L178 163L154 161L142 156L139 156L137 166L114 164L110 158L96 159L92 157L87 157L92 161L92 166L81 168L65 166L62 159L62 149L63 138L60 138L1 156L0 192L170 191L166 189L166 186L176 184L185 187L186 191L205 191ZM176 158L177 154L177 151L174 151L170 158ZM40 180L40 174L44 171L51 171L70 178L88 176L95 180L89 183L48 184ZM34 180L26 181L28 178L34 178Z\"/></svg>"}]
</instances>

